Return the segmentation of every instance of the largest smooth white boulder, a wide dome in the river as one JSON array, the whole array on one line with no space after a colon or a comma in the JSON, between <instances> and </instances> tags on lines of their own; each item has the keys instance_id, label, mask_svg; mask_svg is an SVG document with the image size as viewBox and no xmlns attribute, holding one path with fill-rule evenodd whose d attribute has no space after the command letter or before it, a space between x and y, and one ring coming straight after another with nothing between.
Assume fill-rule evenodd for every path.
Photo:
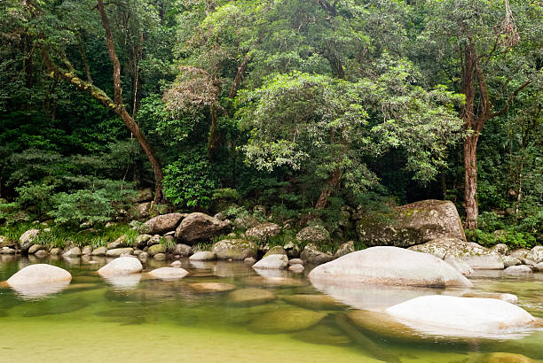
<instances>
[{"instance_id":1,"label":"largest smooth white boulder, a wide dome in the river","mask_svg":"<svg viewBox=\"0 0 543 363\"><path fill-rule=\"evenodd\" d=\"M453 266L428 253L372 247L315 267L311 282L377 283L399 286L472 286Z\"/></svg>"}]
</instances>

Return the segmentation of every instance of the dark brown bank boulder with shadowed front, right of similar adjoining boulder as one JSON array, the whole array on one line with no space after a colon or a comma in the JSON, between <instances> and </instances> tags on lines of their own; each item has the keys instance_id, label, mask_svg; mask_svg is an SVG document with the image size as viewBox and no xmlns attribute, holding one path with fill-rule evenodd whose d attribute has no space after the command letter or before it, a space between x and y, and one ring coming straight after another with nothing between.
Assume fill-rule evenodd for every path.
<instances>
[{"instance_id":1,"label":"dark brown bank boulder with shadowed front, right of similar adjoining boulder","mask_svg":"<svg viewBox=\"0 0 543 363\"><path fill-rule=\"evenodd\" d=\"M208 214L195 212L187 215L176 229L177 240L193 244L198 241L209 241L219 236L230 226L229 222L217 220Z\"/></svg>"}]
</instances>

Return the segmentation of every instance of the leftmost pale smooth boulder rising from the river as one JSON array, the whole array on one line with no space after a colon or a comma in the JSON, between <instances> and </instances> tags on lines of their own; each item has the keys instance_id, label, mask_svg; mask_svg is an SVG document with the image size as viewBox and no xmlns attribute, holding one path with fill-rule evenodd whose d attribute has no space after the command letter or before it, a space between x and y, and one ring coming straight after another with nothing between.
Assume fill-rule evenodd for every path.
<instances>
[{"instance_id":1,"label":"leftmost pale smooth boulder rising from the river","mask_svg":"<svg viewBox=\"0 0 543 363\"><path fill-rule=\"evenodd\" d=\"M65 269L47 264L35 264L22 268L12 275L7 283L14 287L24 284L70 282L72 275Z\"/></svg>"}]
</instances>

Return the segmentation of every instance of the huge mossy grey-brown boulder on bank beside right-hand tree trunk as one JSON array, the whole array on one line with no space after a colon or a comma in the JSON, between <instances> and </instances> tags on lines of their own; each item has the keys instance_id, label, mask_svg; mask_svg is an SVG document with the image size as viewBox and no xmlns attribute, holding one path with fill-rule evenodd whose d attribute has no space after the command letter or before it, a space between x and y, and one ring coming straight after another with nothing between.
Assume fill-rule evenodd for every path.
<instances>
[{"instance_id":1,"label":"huge mossy grey-brown boulder on bank beside right-hand tree trunk","mask_svg":"<svg viewBox=\"0 0 543 363\"><path fill-rule=\"evenodd\" d=\"M466 241L456 207L443 200L422 200L387 214L366 214L357 222L357 234L367 246L409 247L444 237Z\"/></svg>"}]
</instances>

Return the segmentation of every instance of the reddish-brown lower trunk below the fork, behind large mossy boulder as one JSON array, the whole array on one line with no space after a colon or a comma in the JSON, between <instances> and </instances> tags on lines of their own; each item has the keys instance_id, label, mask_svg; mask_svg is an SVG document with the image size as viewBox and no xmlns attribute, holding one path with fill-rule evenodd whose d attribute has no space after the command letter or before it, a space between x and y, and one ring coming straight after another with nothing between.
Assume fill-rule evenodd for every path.
<instances>
[{"instance_id":1,"label":"reddish-brown lower trunk below the fork, behind large mossy boulder","mask_svg":"<svg viewBox=\"0 0 543 363\"><path fill-rule=\"evenodd\" d=\"M479 135L468 135L464 140L465 182L464 199L466 203L466 226L477 228L479 210L477 206L477 140Z\"/></svg>"}]
</instances>

